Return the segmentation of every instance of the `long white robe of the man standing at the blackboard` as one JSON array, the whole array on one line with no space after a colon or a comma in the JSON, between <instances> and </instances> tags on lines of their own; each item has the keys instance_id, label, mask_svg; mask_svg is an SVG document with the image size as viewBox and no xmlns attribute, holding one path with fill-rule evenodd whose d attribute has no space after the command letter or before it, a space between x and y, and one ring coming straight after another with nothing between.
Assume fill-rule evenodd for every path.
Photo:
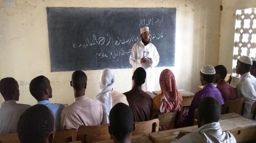
<instances>
[{"instance_id":1,"label":"long white robe of the man standing at the blackboard","mask_svg":"<svg viewBox=\"0 0 256 143\"><path fill-rule=\"evenodd\" d=\"M141 63L141 58L144 56L145 58L152 58L152 63ZM129 58L130 64L132 65L132 73L134 73L135 69L138 67L143 67L147 73L145 83L141 85L143 91L154 91L154 67L158 65L159 57L158 51L152 43L148 43L148 45L145 46L142 41L139 41L132 47Z\"/></svg>"}]
</instances>

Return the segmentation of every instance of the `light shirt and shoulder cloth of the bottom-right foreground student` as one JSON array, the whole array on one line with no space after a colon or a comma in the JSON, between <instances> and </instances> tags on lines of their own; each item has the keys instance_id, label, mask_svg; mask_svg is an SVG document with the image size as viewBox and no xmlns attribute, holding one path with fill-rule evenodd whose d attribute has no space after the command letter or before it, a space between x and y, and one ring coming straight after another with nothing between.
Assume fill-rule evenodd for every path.
<instances>
[{"instance_id":1,"label":"light shirt and shoulder cloth of the bottom-right foreground student","mask_svg":"<svg viewBox=\"0 0 256 143\"><path fill-rule=\"evenodd\" d=\"M222 131L220 123L208 123L196 132L186 134L173 143L236 143L236 138L227 131Z\"/></svg>"}]
</instances>

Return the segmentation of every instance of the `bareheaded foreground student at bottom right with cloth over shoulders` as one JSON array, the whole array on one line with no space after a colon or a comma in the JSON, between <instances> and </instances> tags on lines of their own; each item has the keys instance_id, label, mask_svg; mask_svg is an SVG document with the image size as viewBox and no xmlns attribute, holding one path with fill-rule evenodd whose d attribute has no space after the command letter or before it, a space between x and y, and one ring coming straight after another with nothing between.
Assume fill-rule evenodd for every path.
<instances>
[{"instance_id":1,"label":"bareheaded foreground student at bottom right with cloth over shoulders","mask_svg":"<svg viewBox=\"0 0 256 143\"><path fill-rule=\"evenodd\" d=\"M198 105L198 114L198 130L189 134L180 132L177 137L179 139L174 143L236 143L235 137L230 132L223 132L221 129L219 101L213 97L203 98Z\"/></svg>"}]
</instances>

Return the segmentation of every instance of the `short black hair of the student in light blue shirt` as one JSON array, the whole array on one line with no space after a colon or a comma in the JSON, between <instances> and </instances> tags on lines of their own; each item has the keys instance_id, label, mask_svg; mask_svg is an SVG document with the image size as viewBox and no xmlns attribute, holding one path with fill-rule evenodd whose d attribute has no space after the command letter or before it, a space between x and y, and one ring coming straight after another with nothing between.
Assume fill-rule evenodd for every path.
<instances>
[{"instance_id":1,"label":"short black hair of the student in light blue shirt","mask_svg":"<svg viewBox=\"0 0 256 143\"><path fill-rule=\"evenodd\" d=\"M45 76L37 76L29 84L29 91L31 95L37 100L41 101L44 95L45 89L47 89L47 83Z\"/></svg>"}]
</instances>

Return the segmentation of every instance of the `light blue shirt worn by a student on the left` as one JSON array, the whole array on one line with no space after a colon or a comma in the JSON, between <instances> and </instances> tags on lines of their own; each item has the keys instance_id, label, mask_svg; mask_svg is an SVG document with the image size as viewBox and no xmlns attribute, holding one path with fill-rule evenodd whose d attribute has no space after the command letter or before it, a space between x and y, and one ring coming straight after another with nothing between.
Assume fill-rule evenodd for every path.
<instances>
[{"instance_id":1,"label":"light blue shirt worn by a student on the left","mask_svg":"<svg viewBox=\"0 0 256 143\"><path fill-rule=\"evenodd\" d=\"M56 131L60 130L60 114L61 111L64 109L64 105L58 103L50 103L49 100L38 101L37 104L42 104L47 106L52 113L54 114L55 119L55 128Z\"/></svg>"}]
</instances>

